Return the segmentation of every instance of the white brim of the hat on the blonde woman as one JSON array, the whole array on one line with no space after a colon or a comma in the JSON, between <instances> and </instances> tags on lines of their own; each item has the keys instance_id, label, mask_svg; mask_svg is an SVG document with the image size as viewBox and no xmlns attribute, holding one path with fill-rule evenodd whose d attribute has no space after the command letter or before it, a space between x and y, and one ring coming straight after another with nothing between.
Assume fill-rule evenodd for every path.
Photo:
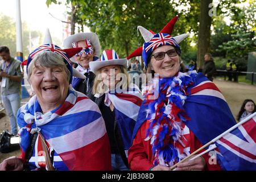
<instances>
[{"instance_id":1,"label":"white brim of the hat on the blonde woman","mask_svg":"<svg viewBox=\"0 0 256 182\"><path fill-rule=\"evenodd\" d=\"M106 67L109 65L122 65L123 67L127 67L127 59L115 59L108 61L90 61L89 66L90 70L93 73L96 73L100 68Z\"/></svg>"}]
</instances>

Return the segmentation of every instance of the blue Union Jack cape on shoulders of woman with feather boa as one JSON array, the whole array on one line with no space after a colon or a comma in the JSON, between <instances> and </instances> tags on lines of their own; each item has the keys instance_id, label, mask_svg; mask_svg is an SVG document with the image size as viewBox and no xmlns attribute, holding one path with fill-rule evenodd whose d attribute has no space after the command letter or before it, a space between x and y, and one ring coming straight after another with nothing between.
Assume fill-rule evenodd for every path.
<instances>
[{"instance_id":1,"label":"blue Union Jack cape on shoulders of woman with feather boa","mask_svg":"<svg viewBox=\"0 0 256 182\"><path fill-rule=\"evenodd\" d=\"M202 144L208 143L236 124L224 96L202 73L193 77L193 85L185 91L189 91L186 92L187 98L183 105L188 118L182 120ZM146 102L145 99L139 110L133 138L148 115Z\"/></svg>"}]
</instances>

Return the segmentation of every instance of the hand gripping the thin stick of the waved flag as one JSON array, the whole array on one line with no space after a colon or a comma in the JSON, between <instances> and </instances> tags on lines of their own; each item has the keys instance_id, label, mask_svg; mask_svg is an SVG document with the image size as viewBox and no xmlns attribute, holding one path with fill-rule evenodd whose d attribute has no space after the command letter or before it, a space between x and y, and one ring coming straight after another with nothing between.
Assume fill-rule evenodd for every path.
<instances>
[{"instance_id":1,"label":"hand gripping the thin stick of the waved flag","mask_svg":"<svg viewBox=\"0 0 256 182\"><path fill-rule=\"evenodd\" d=\"M193 158L193 156L191 157ZM177 165L175 171L201 171L205 168L205 160L203 157L187 160Z\"/></svg>"}]
</instances>

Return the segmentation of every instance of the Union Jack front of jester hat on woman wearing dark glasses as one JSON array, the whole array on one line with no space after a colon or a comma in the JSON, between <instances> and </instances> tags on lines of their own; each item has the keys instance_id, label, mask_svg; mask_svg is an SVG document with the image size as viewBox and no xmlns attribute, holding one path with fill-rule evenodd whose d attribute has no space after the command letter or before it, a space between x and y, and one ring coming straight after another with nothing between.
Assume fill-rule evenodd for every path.
<instances>
[{"instance_id":1,"label":"Union Jack front of jester hat on woman wearing dark glasses","mask_svg":"<svg viewBox=\"0 0 256 182\"><path fill-rule=\"evenodd\" d=\"M154 36L148 42L148 46L145 48L145 51L148 52L152 48L154 50L155 48L163 45L173 45L173 46L179 46L174 38L171 37L171 35L159 33Z\"/></svg>"}]
</instances>

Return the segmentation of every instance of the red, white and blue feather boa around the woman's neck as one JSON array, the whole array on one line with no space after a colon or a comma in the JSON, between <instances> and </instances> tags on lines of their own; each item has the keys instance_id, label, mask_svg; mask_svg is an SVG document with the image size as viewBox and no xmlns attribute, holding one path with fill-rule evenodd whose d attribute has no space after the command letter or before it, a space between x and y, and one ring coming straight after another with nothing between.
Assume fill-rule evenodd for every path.
<instances>
[{"instance_id":1,"label":"red, white and blue feather boa around the woman's neck","mask_svg":"<svg viewBox=\"0 0 256 182\"><path fill-rule=\"evenodd\" d=\"M150 127L145 140L150 140L155 165L172 166L181 160L175 143L181 142L181 125L189 120L183 105L196 75L195 71L179 72L174 77L154 79L147 89L144 97ZM158 98L151 99L154 93L159 94Z\"/></svg>"}]
</instances>

